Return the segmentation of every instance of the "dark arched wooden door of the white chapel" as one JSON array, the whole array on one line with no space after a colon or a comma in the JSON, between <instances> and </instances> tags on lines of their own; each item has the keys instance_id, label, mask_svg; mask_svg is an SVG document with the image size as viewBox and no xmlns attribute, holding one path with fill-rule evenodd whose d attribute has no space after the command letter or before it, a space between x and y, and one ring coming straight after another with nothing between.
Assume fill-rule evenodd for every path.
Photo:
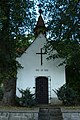
<instances>
[{"instance_id":1,"label":"dark arched wooden door of the white chapel","mask_svg":"<svg viewBox=\"0 0 80 120\"><path fill-rule=\"evenodd\" d=\"M36 78L36 100L37 104L48 104L48 78Z\"/></svg>"}]
</instances>

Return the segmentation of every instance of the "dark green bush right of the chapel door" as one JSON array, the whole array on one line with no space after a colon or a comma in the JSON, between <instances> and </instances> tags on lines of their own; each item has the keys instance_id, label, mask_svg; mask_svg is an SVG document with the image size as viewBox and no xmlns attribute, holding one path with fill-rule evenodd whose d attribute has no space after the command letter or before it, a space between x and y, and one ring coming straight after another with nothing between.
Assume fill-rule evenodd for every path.
<instances>
[{"instance_id":1,"label":"dark green bush right of the chapel door","mask_svg":"<svg viewBox=\"0 0 80 120\"><path fill-rule=\"evenodd\" d=\"M64 105L77 104L79 95L72 88L66 86L66 84L60 87L58 90L53 91L57 94L58 99L61 100Z\"/></svg>"}]
</instances>

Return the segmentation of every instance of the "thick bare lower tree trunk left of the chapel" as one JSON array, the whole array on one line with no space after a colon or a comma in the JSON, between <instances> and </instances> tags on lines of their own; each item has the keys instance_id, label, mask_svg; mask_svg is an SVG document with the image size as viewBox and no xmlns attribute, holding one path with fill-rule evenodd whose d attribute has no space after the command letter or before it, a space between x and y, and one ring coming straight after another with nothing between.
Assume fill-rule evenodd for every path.
<instances>
[{"instance_id":1,"label":"thick bare lower tree trunk left of the chapel","mask_svg":"<svg viewBox=\"0 0 80 120\"><path fill-rule=\"evenodd\" d=\"M4 80L2 105L14 106L16 98L16 79Z\"/></svg>"}]
</instances>

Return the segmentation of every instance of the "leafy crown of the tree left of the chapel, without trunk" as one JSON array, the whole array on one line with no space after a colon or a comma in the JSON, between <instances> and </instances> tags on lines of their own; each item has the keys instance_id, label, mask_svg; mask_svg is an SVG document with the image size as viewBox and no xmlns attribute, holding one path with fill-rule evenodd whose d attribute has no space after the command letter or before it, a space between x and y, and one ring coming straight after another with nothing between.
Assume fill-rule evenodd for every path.
<instances>
[{"instance_id":1,"label":"leafy crown of the tree left of the chapel, without trunk","mask_svg":"<svg viewBox=\"0 0 80 120\"><path fill-rule=\"evenodd\" d=\"M16 56L29 46L25 37L32 32L35 24L34 1L0 1L0 80L16 76ZM4 75L5 71L5 75Z\"/></svg>"}]
</instances>

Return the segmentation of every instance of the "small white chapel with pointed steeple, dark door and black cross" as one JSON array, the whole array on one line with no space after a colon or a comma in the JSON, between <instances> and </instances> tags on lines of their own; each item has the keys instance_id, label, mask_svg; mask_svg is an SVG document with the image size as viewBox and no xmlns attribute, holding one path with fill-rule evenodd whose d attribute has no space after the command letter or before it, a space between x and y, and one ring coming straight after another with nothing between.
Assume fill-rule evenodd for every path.
<instances>
[{"instance_id":1,"label":"small white chapel with pointed steeple, dark door and black cross","mask_svg":"<svg viewBox=\"0 0 80 120\"><path fill-rule=\"evenodd\" d=\"M34 33L34 42L17 59L23 67L17 73L17 88L30 88L38 104L55 104L58 99L53 89L65 84L65 65L58 66L62 61L60 58L47 60L48 54L44 49L47 42L46 27L41 13ZM16 94L20 96L18 89Z\"/></svg>"}]
</instances>

